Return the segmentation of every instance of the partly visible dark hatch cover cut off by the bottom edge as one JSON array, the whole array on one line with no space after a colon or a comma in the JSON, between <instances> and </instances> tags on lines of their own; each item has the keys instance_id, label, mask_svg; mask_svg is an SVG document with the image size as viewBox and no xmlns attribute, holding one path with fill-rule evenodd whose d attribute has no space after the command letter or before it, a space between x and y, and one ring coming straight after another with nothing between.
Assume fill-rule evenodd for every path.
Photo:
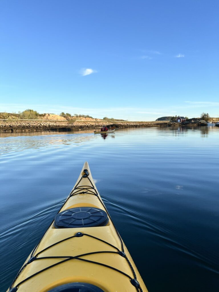
<instances>
[{"instance_id":1,"label":"partly visible dark hatch cover cut off by the bottom edge","mask_svg":"<svg viewBox=\"0 0 219 292\"><path fill-rule=\"evenodd\" d=\"M99 287L94 286L92 284L75 282L55 287L52 290L49 290L48 292L103 292L103 291Z\"/></svg>"}]
</instances>

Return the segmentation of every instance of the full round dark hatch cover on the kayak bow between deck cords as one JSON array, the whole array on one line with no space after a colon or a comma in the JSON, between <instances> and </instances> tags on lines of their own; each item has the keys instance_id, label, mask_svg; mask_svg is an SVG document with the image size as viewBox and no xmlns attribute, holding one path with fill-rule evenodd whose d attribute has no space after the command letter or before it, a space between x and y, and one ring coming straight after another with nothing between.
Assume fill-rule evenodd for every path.
<instances>
[{"instance_id":1,"label":"full round dark hatch cover on the kayak bow between deck cords","mask_svg":"<svg viewBox=\"0 0 219 292\"><path fill-rule=\"evenodd\" d=\"M97 227L105 226L109 219L107 213L98 208L78 207L58 213L55 216L55 227Z\"/></svg>"}]
</instances>

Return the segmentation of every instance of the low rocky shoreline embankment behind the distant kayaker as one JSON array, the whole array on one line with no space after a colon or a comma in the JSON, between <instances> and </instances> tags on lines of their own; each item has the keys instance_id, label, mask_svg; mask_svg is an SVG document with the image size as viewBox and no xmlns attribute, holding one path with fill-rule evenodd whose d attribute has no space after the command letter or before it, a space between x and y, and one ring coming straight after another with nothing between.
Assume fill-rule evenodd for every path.
<instances>
[{"instance_id":1,"label":"low rocky shoreline embankment behind the distant kayaker","mask_svg":"<svg viewBox=\"0 0 219 292\"><path fill-rule=\"evenodd\" d=\"M104 124L112 124L110 121L39 121L39 120L1 120L0 132L28 132L28 131L76 131L96 129ZM187 126L205 126L203 123L191 123ZM117 128L147 128L147 127L179 127L185 126L175 122L149 121L129 122L117 121Z\"/></svg>"}]
</instances>

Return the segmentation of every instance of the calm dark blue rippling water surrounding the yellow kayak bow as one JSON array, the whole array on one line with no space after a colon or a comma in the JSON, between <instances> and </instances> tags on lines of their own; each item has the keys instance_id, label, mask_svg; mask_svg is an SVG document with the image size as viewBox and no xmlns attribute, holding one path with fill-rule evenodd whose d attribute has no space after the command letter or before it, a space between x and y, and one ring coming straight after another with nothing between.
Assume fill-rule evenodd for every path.
<instances>
[{"instance_id":1,"label":"calm dark blue rippling water surrounding the yellow kayak bow","mask_svg":"<svg viewBox=\"0 0 219 292\"><path fill-rule=\"evenodd\" d=\"M85 161L149 292L218 291L216 127L0 134L0 291Z\"/></svg>"}]
</instances>

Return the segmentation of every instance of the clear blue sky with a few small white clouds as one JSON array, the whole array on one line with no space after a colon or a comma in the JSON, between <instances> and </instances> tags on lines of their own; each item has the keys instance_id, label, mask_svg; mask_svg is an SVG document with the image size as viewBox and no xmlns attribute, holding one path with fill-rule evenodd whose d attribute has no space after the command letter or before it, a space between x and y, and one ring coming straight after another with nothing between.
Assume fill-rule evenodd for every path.
<instances>
[{"instance_id":1,"label":"clear blue sky with a few small white clouds","mask_svg":"<svg viewBox=\"0 0 219 292\"><path fill-rule=\"evenodd\" d=\"M219 1L0 0L0 112L219 117Z\"/></svg>"}]
</instances>

